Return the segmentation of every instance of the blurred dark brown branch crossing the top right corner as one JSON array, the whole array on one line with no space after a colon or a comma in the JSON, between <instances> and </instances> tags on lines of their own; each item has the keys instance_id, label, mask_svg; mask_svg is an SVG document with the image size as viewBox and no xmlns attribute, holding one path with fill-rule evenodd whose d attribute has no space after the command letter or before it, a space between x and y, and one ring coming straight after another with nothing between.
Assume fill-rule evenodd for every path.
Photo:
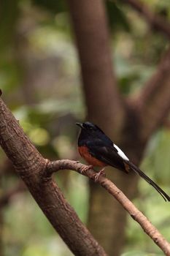
<instances>
[{"instance_id":1,"label":"blurred dark brown branch crossing the top right corner","mask_svg":"<svg viewBox=\"0 0 170 256\"><path fill-rule=\"evenodd\" d=\"M149 8L138 0L120 0L124 4L128 4L139 12L147 23L151 26L152 29L161 31L166 37L170 39L170 23L168 20L165 20L161 15L153 13Z\"/></svg>"}]
</instances>

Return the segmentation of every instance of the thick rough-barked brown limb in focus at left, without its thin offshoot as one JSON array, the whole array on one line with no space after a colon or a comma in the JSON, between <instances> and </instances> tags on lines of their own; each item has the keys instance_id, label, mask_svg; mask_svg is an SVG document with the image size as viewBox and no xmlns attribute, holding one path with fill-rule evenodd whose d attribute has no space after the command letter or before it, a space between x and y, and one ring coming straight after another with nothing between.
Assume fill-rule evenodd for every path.
<instances>
[{"instance_id":1,"label":"thick rough-barked brown limb in focus at left, without its thin offshoot","mask_svg":"<svg viewBox=\"0 0 170 256\"><path fill-rule=\"evenodd\" d=\"M105 256L104 249L82 224L51 177L44 177L44 159L0 99L0 145L47 219L74 255Z\"/></svg>"}]
</instances>

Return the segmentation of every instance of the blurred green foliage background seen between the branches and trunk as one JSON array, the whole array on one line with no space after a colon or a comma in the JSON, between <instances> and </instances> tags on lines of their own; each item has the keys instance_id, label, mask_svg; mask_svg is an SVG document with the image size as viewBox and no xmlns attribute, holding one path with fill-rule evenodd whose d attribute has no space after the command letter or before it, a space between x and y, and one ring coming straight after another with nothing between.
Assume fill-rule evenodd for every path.
<instances>
[{"instance_id":1,"label":"blurred green foliage background seen between the branches and trunk","mask_svg":"<svg viewBox=\"0 0 170 256\"><path fill-rule=\"evenodd\" d=\"M147 4L170 20L170 1L150 0ZM106 1L106 7L120 89L123 94L137 93L155 71L167 39L150 33L147 23L131 8L111 1ZM2 0L0 56L2 98L36 148L49 159L80 159L74 123L85 118L85 105L66 3ZM170 129L163 127L152 136L141 167L170 193L169 145ZM20 181L2 151L0 159L0 195L4 197ZM86 223L87 178L65 170L55 178ZM139 182L134 203L170 240L169 204L144 181ZM0 222L1 256L72 255L24 189L13 193L1 206ZM126 233L124 256L163 255L130 217Z\"/></svg>"}]
</instances>

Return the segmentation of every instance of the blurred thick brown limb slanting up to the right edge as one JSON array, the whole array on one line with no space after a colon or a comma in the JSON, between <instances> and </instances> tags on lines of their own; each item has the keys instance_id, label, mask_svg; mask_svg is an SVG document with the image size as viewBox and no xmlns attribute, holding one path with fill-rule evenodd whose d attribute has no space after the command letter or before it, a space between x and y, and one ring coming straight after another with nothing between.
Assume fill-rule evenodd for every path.
<instances>
[{"instance_id":1,"label":"blurred thick brown limb slanting up to the right edge","mask_svg":"<svg viewBox=\"0 0 170 256\"><path fill-rule=\"evenodd\" d=\"M150 138L169 114L170 110L170 48L165 53L157 71L147 81L136 99L142 118L142 138ZM152 121L151 121L152 120Z\"/></svg>"}]
</instances>

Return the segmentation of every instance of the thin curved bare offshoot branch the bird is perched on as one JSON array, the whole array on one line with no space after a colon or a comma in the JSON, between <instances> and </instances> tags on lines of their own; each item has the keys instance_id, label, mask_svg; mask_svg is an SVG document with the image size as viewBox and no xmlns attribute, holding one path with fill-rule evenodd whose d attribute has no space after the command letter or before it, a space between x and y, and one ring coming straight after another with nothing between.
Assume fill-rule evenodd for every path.
<instances>
[{"instance_id":1,"label":"thin curved bare offshoot branch the bird is perched on","mask_svg":"<svg viewBox=\"0 0 170 256\"><path fill-rule=\"evenodd\" d=\"M45 176L51 176L52 173L63 169L75 170L77 173L82 174L81 171L84 167L87 167L87 165L82 165L80 162L75 162L68 159L48 162L47 168L45 170ZM87 170L85 173L83 173L83 175L88 176L88 178L92 180L94 180L95 174L96 171L93 169ZM112 181L110 181L108 178L105 178L104 176L99 176L98 184L101 184L101 187L104 187L107 192L109 192L117 199L117 201L123 206L123 208L128 211L128 214L130 214L131 217L136 220L139 225L141 225L144 232L147 233L148 236L150 236L152 241L154 241L155 244L157 244L166 255L170 255L169 242L166 241L165 238L163 238L161 233L151 224L147 217L145 217L144 214L142 214L142 212L139 211L136 206L131 203L130 200L128 200L123 192L120 191L120 189L118 189L115 184L112 183Z\"/></svg>"}]
</instances>

